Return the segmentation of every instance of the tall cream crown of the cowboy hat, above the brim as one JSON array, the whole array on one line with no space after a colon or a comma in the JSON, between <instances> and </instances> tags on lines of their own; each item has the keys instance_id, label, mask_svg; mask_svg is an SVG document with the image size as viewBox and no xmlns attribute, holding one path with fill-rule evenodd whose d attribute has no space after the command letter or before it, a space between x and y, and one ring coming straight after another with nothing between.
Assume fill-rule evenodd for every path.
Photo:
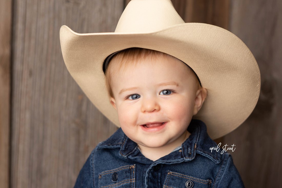
<instances>
[{"instance_id":1,"label":"tall cream crown of the cowboy hat, above the brim","mask_svg":"<svg viewBox=\"0 0 282 188\"><path fill-rule=\"evenodd\" d=\"M185 23L170 0L131 0L114 32L154 32Z\"/></svg>"}]
</instances>

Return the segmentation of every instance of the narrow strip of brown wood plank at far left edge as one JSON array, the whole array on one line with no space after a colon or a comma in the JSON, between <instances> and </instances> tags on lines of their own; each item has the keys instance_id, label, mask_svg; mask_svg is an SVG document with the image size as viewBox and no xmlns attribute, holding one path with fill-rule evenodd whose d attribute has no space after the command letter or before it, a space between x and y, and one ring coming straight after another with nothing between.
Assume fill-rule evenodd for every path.
<instances>
[{"instance_id":1,"label":"narrow strip of brown wood plank at far left edge","mask_svg":"<svg viewBox=\"0 0 282 188\"><path fill-rule=\"evenodd\" d=\"M10 178L10 90L12 1L0 0L0 187Z\"/></svg>"}]
</instances>

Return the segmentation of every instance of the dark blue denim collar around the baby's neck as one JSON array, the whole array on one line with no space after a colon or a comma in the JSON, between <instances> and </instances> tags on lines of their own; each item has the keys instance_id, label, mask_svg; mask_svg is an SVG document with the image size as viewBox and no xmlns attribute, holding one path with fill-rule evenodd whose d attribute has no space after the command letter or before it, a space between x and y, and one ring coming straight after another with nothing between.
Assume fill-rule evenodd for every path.
<instances>
[{"instance_id":1,"label":"dark blue denim collar around the baby's neck","mask_svg":"<svg viewBox=\"0 0 282 188\"><path fill-rule=\"evenodd\" d=\"M191 133L189 138L182 143L182 149L173 151L170 154L158 159L162 161L191 161L195 158L196 153L201 154L212 160L214 163L220 163L220 151L211 152L211 147L217 147L215 141L208 136L206 124L201 120L192 119L187 130ZM96 149L114 149L120 148L119 155L123 158L142 158L142 162L151 163L152 161L145 158L138 150L138 145L128 138L121 128L119 128L107 140L100 142ZM143 156L143 157L142 157Z\"/></svg>"}]
</instances>

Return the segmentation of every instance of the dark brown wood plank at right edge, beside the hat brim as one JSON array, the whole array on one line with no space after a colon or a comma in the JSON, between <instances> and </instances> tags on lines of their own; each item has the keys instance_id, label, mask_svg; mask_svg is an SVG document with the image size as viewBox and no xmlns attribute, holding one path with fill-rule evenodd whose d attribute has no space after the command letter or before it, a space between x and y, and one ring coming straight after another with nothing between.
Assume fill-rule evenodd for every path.
<instances>
[{"instance_id":1,"label":"dark brown wood plank at right edge, beside the hat brim","mask_svg":"<svg viewBox=\"0 0 282 188\"><path fill-rule=\"evenodd\" d=\"M233 160L246 187L281 187L282 1L231 1L229 27L257 60L261 92L254 112L224 143L236 145Z\"/></svg>"}]
</instances>

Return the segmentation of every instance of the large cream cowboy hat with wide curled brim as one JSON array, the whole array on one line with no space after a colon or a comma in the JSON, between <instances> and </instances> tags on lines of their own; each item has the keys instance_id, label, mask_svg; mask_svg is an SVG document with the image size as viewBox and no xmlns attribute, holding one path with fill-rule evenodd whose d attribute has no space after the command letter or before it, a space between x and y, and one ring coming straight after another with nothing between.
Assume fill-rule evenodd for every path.
<instances>
[{"instance_id":1,"label":"large cream cowboy hat with wide curled brim","mask_svg":"<svg viewBox=\"0 0 282 188\"><path fill-rule=\"evenodd\" d=\"M164 52L195 71L208 96L193 118L206 124L212 139L241 125L259 98L260 72L249 48L221 27L185 23L170 0L130 1L114 32L80 34L63 25L60 42L71 76L117 127L118 115L109 102L103 63L126 48Z\"/></svg>"}]
</instances>

